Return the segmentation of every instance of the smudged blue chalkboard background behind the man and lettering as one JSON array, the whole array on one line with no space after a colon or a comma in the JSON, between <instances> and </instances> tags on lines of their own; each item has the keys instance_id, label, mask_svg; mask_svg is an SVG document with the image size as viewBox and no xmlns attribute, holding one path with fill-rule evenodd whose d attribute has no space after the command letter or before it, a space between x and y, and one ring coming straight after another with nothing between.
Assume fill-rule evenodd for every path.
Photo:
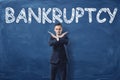
<instances>
[{"instance_id":1,"label":"smudged blue chalkboard background behind the man and lettering","mask_svg":"<svg viewBox=\"0 0 120 80\"><path fill-rule=\"evenodd\" d=\"M68 31L68 80L120 80L120 8L119 0L0 0L0 80L49 80L50 56L48 31L54 23L5 23L5 8L12 7L17 16L22 8L118 8L113 23L88 22L88 13L71 24L63 24ZM50 15L51 17L51 15ZM109 19L108 15L102 15Z\"/></svg>"}]
</instances>

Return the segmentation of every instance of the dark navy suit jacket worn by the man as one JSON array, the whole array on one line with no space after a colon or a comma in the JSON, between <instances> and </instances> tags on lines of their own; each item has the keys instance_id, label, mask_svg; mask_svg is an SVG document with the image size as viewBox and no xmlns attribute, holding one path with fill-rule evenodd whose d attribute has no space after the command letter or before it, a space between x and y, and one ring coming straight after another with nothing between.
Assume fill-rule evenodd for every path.
<instances>
[{"instance_id":1,"label":"dark navy suit jacket worn by the man","mask_svg":"<svg viewBox=\"0 0 120 80\"><path fill-rule=\"evenodd\" d=\"M59 38L59 41L57 41L52 36L49 40L49 45L52 46L52 56L50 59L50 63L57 64L57 63L66 63L67 62L67 56L66 56L66 50L65 45L68 44L68 37L64 36L62 38Z\"/></svg>"}]
</instances>

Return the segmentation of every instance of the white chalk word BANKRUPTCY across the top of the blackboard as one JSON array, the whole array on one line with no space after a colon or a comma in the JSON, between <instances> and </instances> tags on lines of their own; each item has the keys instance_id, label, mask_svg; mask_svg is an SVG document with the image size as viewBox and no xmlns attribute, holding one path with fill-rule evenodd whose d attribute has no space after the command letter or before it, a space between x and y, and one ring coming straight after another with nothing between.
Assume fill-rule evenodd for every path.
<instances>
[{"instance_id":1,"label":"white chalk word BANKRUPTCY across the top of the blackboard","mask_svg":"<svg viewBox=\"0 0 120 80\"><path fill-rule=\"evenodd\" d=\"M17 10L18 11L18 10ZM83 18L85 13L88 14L87 19L89 23L93 22L93 13L94 17L98 23L113 23L118 9L117 8L82 8L76 7L71 8L71 10L67 10L66 8L38 8L37 12L35 12L32 8L21 8L21 10L16 14L14 8L6 7L5 8L5 22L6 23L19 23L23 21L24 23L31 23L34 19L38 23L45 24L47 23L55 23L56 21L60 23L70 24L73 21L75 23L79 23L79 20ZM69 16L68 16L69 14ZM104 16L106 15L106 16ZM85 18L85 17L84 17Z\"/></svg>"}]
</instances>

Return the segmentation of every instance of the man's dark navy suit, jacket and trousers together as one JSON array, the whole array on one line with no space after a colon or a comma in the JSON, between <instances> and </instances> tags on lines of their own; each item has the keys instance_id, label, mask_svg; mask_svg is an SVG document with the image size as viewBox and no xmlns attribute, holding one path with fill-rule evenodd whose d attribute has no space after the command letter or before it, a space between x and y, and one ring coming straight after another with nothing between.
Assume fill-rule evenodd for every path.
<instances>
[{"instance_id":1,"label":"man's dark navy suit, jacket and trousers together","mask_svg":"<svg viewBox=\"0 0 120 80\"><path fill-rule=\"evenodd\" d=\"M67 44L68 44L67 36L59 38L59 41L57 41L53 37L50 38L49 45L52 46L53 48L53 52L50 60L51 80L55 80L57 72L60 72L62 80L66 80L67 56L66 56L65 45Z\"/></svg>"}]
</instances>

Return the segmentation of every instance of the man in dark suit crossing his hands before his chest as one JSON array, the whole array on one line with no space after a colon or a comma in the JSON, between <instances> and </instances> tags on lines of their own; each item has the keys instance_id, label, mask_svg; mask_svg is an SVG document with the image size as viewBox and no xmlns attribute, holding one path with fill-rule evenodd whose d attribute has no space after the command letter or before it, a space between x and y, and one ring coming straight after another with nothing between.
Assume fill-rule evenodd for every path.
<instances>
[{"instance_id":1,"label":"man in dark suit crossing his hands before his chest","mask_svg":"<svg viewBox=\"0 0 120 80\"><path fill-rule=\"evenodd\" d=\"M65 45L68 44L67 32L62 33L62 25L56 24L54 27L55 35L48 31L51 35L49 45L53 48L51 56L51 80L55 80L57 72L60 73L61 80L66 80L67 55Z\"/></svg>"}]
</instances>

